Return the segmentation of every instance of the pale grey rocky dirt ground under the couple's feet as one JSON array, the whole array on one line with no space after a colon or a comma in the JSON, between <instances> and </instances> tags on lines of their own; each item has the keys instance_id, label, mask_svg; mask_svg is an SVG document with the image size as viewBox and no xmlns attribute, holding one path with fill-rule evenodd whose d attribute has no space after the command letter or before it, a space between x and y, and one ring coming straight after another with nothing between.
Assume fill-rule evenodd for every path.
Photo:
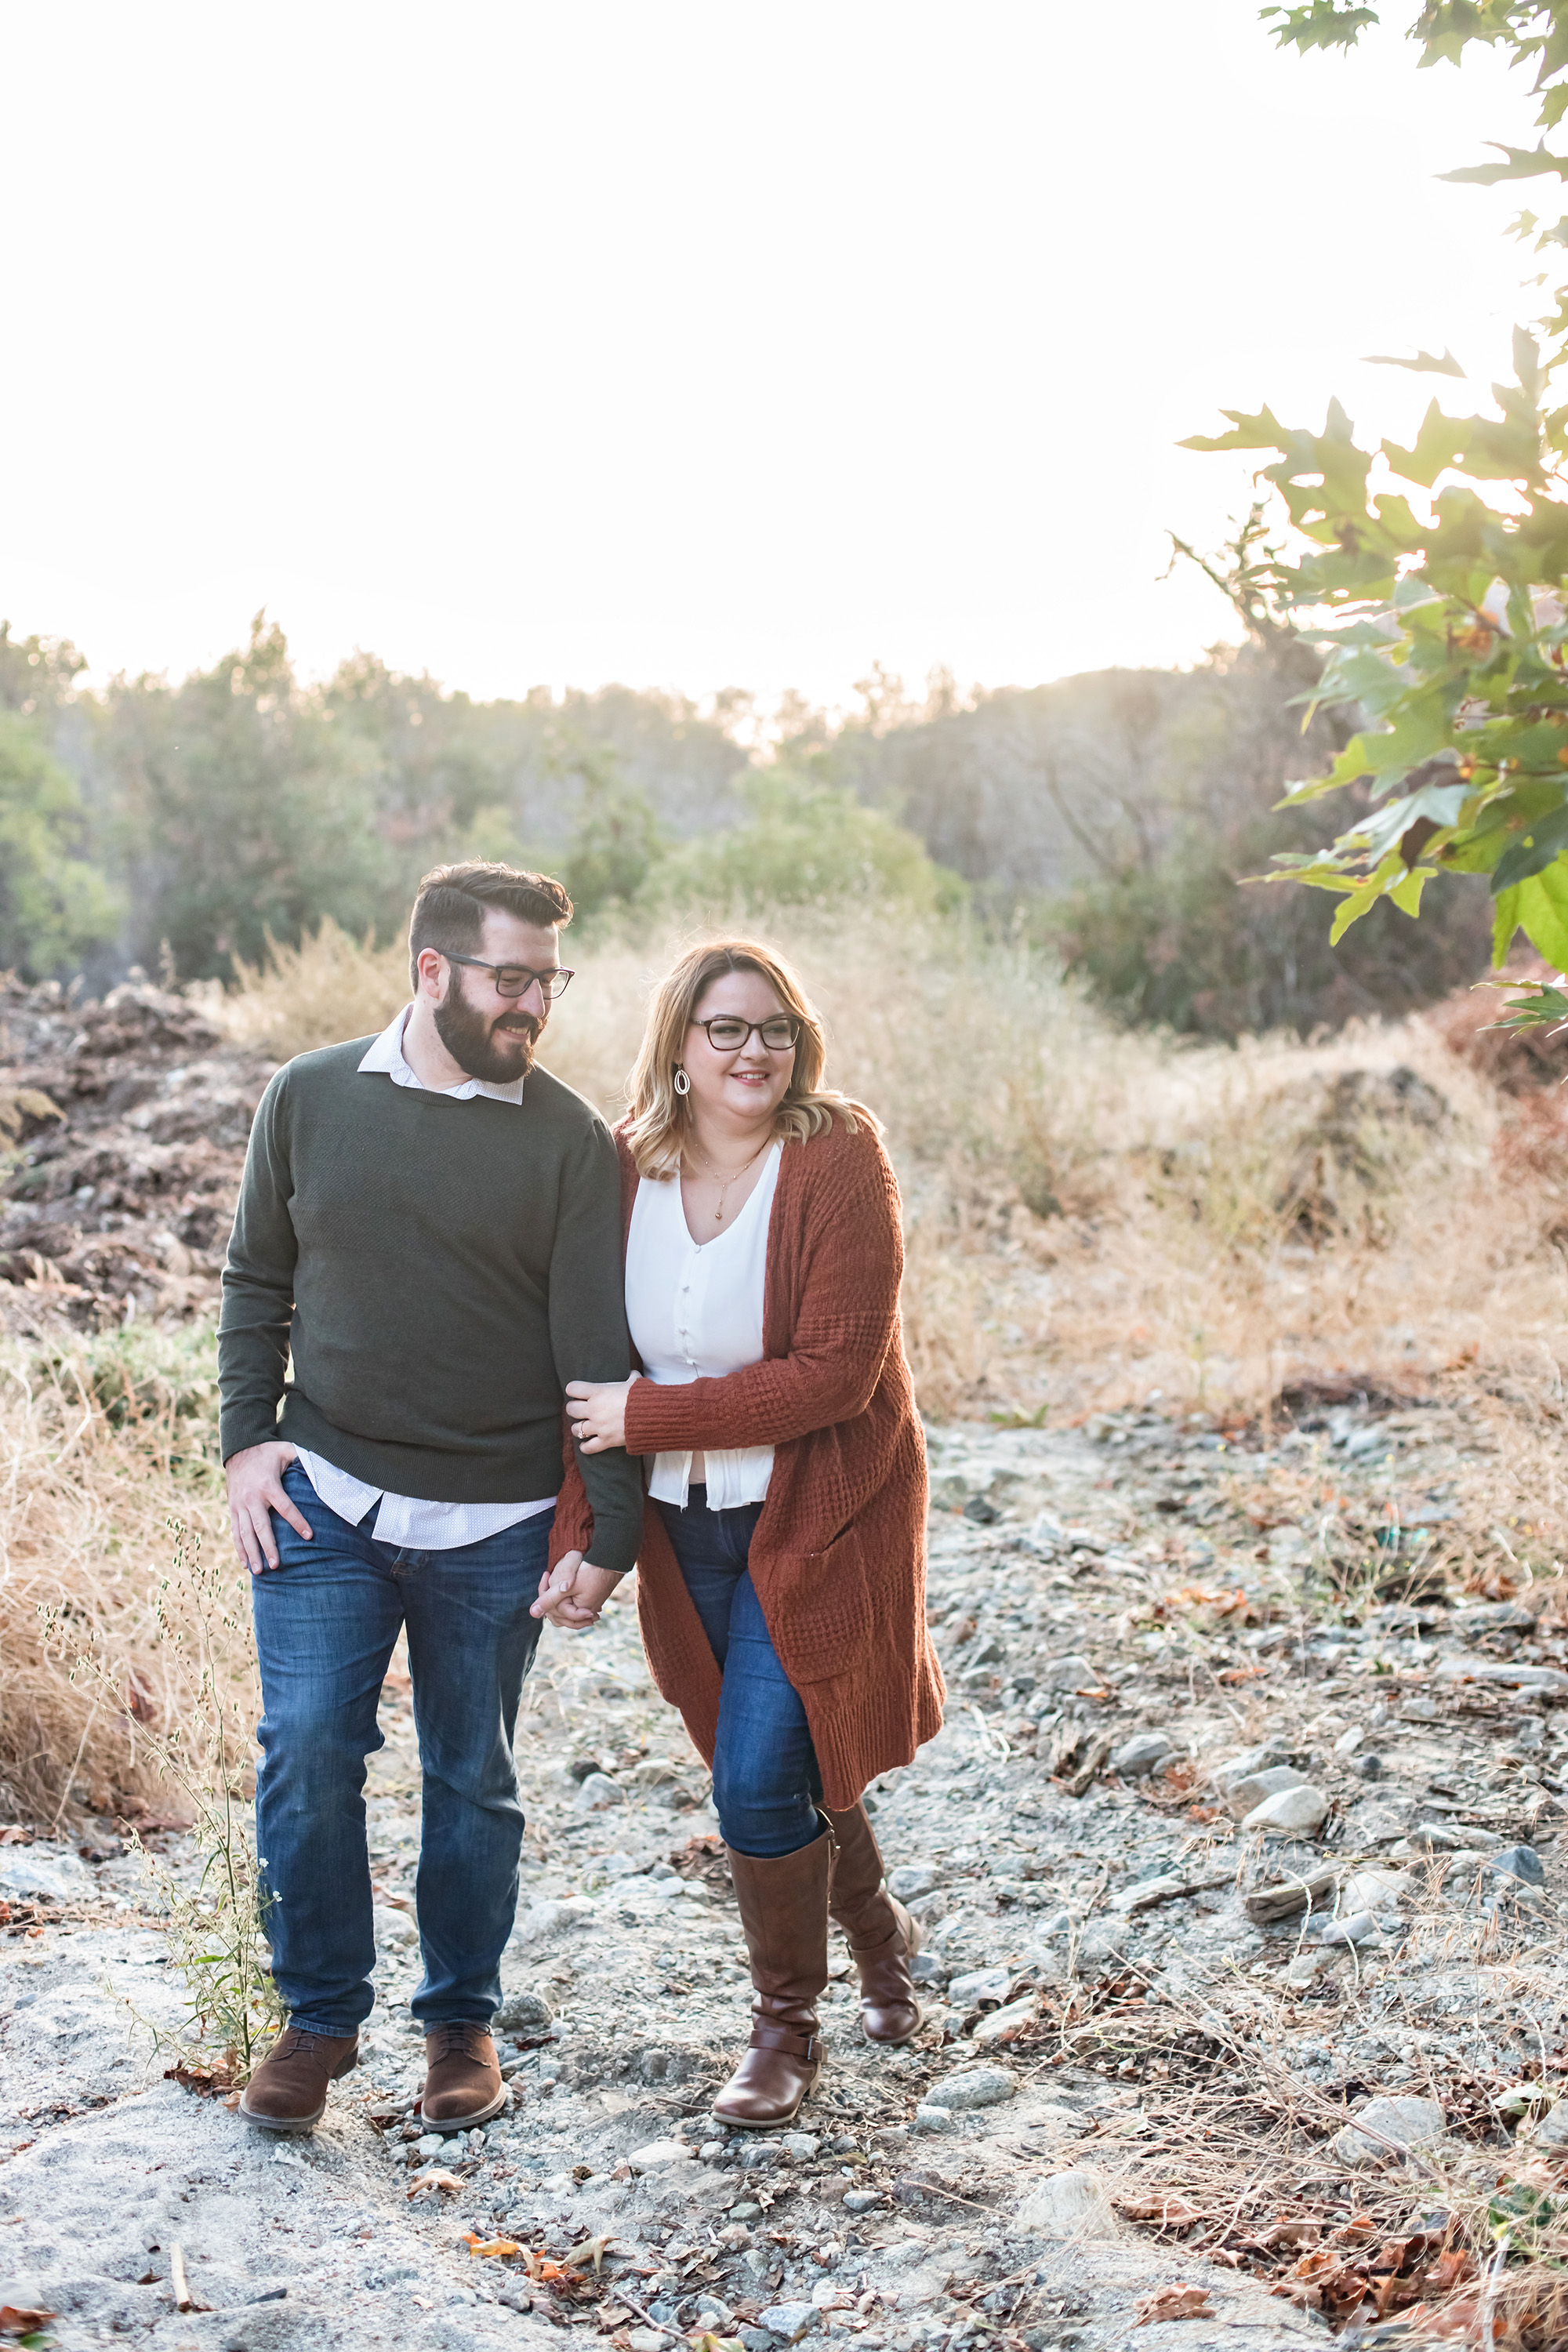
<instances>
[{"instance_id":1,"label":"pale grey rocky dirt ground under the couple's feet","mask_svg":"<svg viewBox=\"0 0 1568 2352\"><path fill-rule=\"evenodd\" d=\"M409 2114L397 1677L378 2006L313 2140L165 2077L148 2023L181 1987L113 1825L85 1851L9 1832L0 2300L54 2312L66 2352L562 2326L614 2352L1269 2352L1474 2307L1460 2225L1537 2199L1568 2150L1563 1585L1497 1529L1493 1569L1465 1555L1493 1597L1462 1590L1465 1406L1293 1406L1274 1437L1154 1409L931 1432L952 1698L872 1792L931 2011L912 2049L867 2046L839 1950L797 2131L708 2114L743 1945L630 1597L548 1632L529 1684L512 2103L484 2133Z\"/></svg>"}]
</instances>

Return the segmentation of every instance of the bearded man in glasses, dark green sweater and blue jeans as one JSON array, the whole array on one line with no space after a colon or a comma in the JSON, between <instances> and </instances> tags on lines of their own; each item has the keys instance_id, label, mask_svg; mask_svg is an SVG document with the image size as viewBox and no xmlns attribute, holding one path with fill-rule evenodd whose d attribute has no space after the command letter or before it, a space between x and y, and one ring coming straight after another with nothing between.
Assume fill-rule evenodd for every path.
<instances>
[{"instance_id":1,"label":"bearded man in glasses, dark green sweater and blue jeans","mask_svg":"<svg viewBox=\"0 0 1568 2352\"><path fill-rule=\"evenodd\" d=\"M261 1656L256 1851L289 2016L240 2100L266 2131L320 2122L371 2009L364 1759L404 1625L423 1764L423 2119L458 2131L505 2098L489 2023L517 1907L512 1731L564 1383L630 1371L616 1148L534 1068L571 978L569 920L543 875L437 866L409 922L414 1002L369 1044L287 1063L256 1110L219 1378ZM637 1465L585 1456L583 1479L592 1562L623 1573ZM583 1625L595 1604L543 1613Z\"/></svg>"}]
</instances>

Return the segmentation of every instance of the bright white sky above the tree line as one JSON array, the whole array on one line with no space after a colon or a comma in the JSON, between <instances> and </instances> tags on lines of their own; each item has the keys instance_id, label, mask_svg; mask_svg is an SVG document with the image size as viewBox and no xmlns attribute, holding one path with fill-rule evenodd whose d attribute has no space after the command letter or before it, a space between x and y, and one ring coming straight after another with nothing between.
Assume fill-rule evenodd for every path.
<instances>
[{"instance_id":1,"label":"bright white sky above the tree line","mask_svg":"<svg viewBox=\"0 0 1568 2352\"><path fill-rule=\"evenodd\" d=\"M1396 21L1415 0L1392 0ZM1227 633L1272 402L1528 315L1495 61L1255 0L0 0L0 614L94 675L266 604L473 694L1032 684ZM1526 188L1526 200L1530 191Z\"/></svg>"}]
</instances>

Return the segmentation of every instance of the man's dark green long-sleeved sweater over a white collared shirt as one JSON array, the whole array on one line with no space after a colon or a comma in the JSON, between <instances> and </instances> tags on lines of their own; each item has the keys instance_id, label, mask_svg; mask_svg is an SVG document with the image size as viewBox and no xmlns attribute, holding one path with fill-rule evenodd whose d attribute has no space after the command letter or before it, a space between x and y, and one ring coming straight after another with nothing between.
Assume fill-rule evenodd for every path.
<instances>
[{"instance_id":1,"label":"man's dark green long-sleeved sweater over a white collared shirt","mask_svg":"<svg viewBox=\"0 0 1568 2352\"><path fill-rule=\"evenodd\" d=\"M369 1042L301 1054L256 1110L223 1268L223 1461L282 1437L430 1503L555 1494L564 1383L630 1371L616 1145L548 1070L522 1103L451 1101L360 1070ZM639 1468L581 1465L592 1562L630 1569Z\"/></svg>"}]
</instances>

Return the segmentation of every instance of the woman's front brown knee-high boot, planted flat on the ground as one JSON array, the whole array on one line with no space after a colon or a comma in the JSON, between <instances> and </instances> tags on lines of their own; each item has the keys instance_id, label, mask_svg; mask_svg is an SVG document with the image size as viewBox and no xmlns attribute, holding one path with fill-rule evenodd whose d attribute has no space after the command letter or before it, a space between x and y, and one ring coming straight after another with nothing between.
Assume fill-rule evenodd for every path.
<instances>
[{"instance_id":1,"label":"woman's front brown knee-high boot, planted flat on the ground","mask_svg":"<svg viewBox=\"0 0 1568 2352\"><path fill-rule=\"evenodd\" d=\"M816 2004L827 1983L832 1830L771 1860L731 1846L729 1875L752 1959L752 2042L712 2112L766 2131L799 2112L823 2072Z\"/></svg>"}]
</instances>

